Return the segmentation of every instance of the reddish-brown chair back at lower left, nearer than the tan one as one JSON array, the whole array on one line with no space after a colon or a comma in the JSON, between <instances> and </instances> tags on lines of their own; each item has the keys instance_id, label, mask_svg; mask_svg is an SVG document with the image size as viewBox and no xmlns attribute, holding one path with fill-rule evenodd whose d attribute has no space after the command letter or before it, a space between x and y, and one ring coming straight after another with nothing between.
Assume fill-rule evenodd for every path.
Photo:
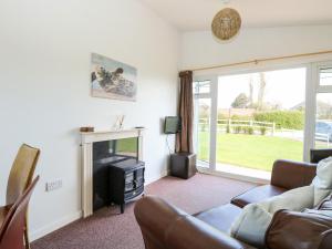
<instances>
[{"instance_id":1,"label":"reddish-brown chair back at lower left, nearer than the tan one","mask_svg":"<svg viewBox=\"0 0 332 249\"><path fill-rule=\"evenodd\" d=\"M24 249L23 235L25 230L25 214L32 191L39 180L39 176L32 181L23 194L10 208L0 227L0 249Z\"/></svg>"}]
</instances>

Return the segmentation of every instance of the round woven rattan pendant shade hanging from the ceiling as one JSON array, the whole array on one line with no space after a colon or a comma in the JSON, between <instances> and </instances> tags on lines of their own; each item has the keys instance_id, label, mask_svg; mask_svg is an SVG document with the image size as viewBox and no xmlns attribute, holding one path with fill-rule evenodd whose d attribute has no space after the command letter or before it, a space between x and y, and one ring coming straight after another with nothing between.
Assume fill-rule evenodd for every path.
<instances>
[{"instance_id":1,"label":"round woven rattan pendant shade hanging from the ceiling","mask_svg":"<svg viewBox=\"0 0 332 249\"><path fill-rule=\"evenodd\" d=\"M212 33L220 40L234 38L241 28L241 17L235 9L220 10L214 18Z\"/></svg>"}]
</instances>

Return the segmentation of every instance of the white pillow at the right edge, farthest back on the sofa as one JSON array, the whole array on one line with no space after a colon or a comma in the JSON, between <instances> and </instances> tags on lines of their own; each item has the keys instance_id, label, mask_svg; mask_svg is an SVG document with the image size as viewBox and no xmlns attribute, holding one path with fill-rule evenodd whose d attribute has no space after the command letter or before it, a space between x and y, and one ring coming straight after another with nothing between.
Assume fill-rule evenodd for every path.
<instances>
[{"instance_id":1,"label":"white pillow at the right edge, farthest back on the sofa","mask_svg":"<svg viewBox=\"0 0 332 249\"><path fill-rule=\"evenodd\" d=\"M332 157L322 159L317 165L312 185L320 189L332 189Z\"/></svg>"}]
</instances>

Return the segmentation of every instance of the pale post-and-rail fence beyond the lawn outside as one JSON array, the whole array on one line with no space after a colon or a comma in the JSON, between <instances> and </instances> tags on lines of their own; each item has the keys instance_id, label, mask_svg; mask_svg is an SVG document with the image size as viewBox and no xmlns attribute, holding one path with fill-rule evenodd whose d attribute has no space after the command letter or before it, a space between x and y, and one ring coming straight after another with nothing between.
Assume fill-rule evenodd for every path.
<instances>
[{"instance_id":1,"label":"pale post-and-rail fence beyond the lawn outside","mask_svg":"<svg viewBox=\"0 0 332 249\"><path fill-rule=\"evenodd\" d=\"M209 118L199 118L199 128L201 131L209 127ZM266 128L271 132L271 135L274 135L276 123L271 122L259 122L259 121L240 121L240 120L217 120L217 132L224 132L229 128L229 132L236 131L238 128L249 128L252 131L261 131Z\"/></svg>"}]
</instances>

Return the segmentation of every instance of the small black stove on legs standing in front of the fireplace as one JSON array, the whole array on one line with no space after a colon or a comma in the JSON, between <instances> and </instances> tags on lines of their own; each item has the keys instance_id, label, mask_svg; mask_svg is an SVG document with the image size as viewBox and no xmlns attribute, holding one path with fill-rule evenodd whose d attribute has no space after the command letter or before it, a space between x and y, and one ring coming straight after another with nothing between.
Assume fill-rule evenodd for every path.
<instances>
[{"instance_id":1,"label":"small black stove on legs standing in front of the fireplace","mask_svg":"<svg viewBox=\"0 0 332 249\"><path fill-rule=\"evenodd\" d=\"M121 214L125 204L144 194L145 163L131 158L110 164L110 203L120 205Z\"/></svg>"}]
</instances>

